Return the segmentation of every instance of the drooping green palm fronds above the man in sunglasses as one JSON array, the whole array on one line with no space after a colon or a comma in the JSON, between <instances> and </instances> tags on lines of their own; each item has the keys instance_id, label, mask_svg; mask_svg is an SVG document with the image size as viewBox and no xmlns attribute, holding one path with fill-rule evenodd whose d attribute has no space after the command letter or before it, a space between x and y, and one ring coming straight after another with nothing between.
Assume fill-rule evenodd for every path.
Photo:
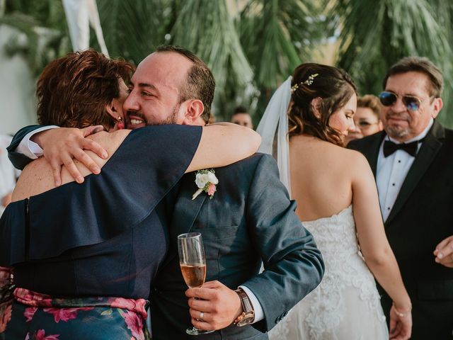
<instances>
[{"instance_id":1,"label":"drooping green palm fronds above the man in sunglasses","mask_svg":"<svg viewBox=\"0 0 453 340\"><path fill-rule=\"evenodd\" d=\"M338 66L350 72L361 94L379 94L386 70L402 57L418 55L428 57L442 69L446 84L444 98L449 98L448 94L452 93L449 57L452 33L447 29L452 26L450 1L438 0L438 4L443 3L438 8L435 2L425 0L331 3L331 18L342 26ZM446 100L445 104L440 119L451 126L453 120L447 112L453 103Z\"/></svg>"}]
</instances>

